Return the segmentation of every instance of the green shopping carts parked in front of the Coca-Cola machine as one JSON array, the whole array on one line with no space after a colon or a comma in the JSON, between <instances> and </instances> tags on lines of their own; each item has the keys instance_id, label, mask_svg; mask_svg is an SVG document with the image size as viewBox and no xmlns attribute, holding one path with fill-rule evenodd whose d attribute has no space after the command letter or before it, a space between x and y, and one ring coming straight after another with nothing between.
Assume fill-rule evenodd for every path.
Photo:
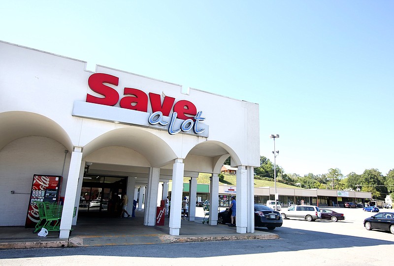
<instances>
[{"instance_id":1,"label":"green shopping carts parked in front of the Coca-Cola machine","mask_svg":"<svg viewBox=\"0 0 394 266\"><path fill-rule=\"evenodd\" d=\"M37 233L41 228L45 228L48 231L60 231L63 205L50 202L37 202L37 207L40 220L35 225L33 233ZM75 217L75 213L76 207L74 208L73 217Z\"/></svg>"}]
</instances>

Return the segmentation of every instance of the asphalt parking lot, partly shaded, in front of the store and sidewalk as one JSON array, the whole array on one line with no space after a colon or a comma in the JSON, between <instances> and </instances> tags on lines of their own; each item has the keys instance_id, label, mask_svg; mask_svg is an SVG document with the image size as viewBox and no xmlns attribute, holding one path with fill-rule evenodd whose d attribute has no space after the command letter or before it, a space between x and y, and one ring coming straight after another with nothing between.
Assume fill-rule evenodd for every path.
<instances>
[{"instance_id":1,"label":"asphalt parking lot, partly shaded, in front of the store and sidewalk","mask_svg":"<svg viewBox=\"0 0 394 266\"><path fill-rule=\"evenodd\" d=\"M364 212L361 208L335 208L335 211L344 213L346 220L334 223L286 219L282 227L272 231L256 228L274 232L279 239L4 250L0 254L0 265L50 264L54 261L65 265L393 264L394 234L368 231L363 227L364 218L375 213Z\"/></svg>"}]
</instances>

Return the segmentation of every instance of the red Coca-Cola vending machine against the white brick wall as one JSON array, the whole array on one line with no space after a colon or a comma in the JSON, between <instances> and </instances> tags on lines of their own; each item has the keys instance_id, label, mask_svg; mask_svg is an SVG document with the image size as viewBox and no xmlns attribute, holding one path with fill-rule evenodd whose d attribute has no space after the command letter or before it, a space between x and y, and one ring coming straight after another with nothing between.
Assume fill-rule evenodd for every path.
<instances>
[{"instance_id":1,"label":"red Coca-Cola vending machine against the white brick wall","mask_svg":"<svg viewBox=\"0 0 394 266\"><path fill-rule=\"evenodd\" d=\"M39 222L37 202L59 202L62 187L61 176L34 175L30 194L26 228L33 228Z\"/></svg>"}]
</instances>

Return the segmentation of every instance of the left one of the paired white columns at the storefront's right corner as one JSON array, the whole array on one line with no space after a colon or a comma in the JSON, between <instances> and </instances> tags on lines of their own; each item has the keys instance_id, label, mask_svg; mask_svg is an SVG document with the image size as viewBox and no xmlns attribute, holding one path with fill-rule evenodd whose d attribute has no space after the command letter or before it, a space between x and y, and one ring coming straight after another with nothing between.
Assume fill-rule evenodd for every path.
<instances>
[{"instance_id":1,"label":"left one of the paired white columns at the storefront's right corner","mask_svg":"<svg viewBox=\"0 0 394 266\"><path fill-rule=\"evenodd\" d=\"M247 173L244 165L238 166L237 170L237 196L236 196L236 225L237 233L246 233L248 225L248 188Z\"/></svg>"}]
</instances>

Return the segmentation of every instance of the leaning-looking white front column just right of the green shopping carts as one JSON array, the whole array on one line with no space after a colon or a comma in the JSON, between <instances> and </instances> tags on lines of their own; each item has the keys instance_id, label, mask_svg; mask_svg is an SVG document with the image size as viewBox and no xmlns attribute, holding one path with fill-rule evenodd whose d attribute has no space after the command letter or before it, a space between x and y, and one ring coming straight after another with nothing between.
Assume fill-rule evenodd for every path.
<instances>
[{"instance_id":1,"label":"leaning-looking white front column just right of the green shopping carts","mask_svg":"<svg viewBox=\"0 0 394 266\"><path fill-rule=\"evenodd\" d=\"M65 202L63 205L62 221L60 223L59 238L68 238L74 213L75 195L78 187L78 177L82 167L82 147L74 147L71 153L70 168L68 171Z\"/></svg>"}]
</instances>

